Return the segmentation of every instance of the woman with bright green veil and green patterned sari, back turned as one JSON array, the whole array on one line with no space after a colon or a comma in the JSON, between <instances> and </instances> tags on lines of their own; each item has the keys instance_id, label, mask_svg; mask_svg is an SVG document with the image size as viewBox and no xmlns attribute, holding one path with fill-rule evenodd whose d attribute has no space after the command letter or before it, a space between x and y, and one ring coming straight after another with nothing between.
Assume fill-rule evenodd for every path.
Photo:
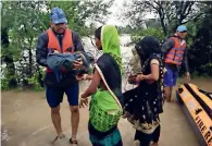
<instances>
[{"instance_id":1,"label":"woman with bright green veil and green patterned sari, back turned","mask_svg":"<svg viewBox=\"0 0 212 146\"><path fill-rule=\"evenodd\" d=\"M89 138L93 146L122 146L117 122L122 115L122 58L117 31L112 25L103 25L96 33L96 46L103 54L95 64L91 84L80 95L80 105L88 104Z\"/></svg>"}]
</instances>

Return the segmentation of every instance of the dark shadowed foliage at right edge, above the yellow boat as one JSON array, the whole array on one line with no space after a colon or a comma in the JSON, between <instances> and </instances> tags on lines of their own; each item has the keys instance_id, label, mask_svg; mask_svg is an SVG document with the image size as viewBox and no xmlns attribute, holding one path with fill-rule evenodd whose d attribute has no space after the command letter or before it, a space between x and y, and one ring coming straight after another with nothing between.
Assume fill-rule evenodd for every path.
<instances>
[{"instance_id":1,"label":"dark shadowed foliage at right edge, above the yellow boat","mask_svg":"<svg viewBox=\"0 0 212 146\"><path fill-rule=\"evenodd\" d=\"M195 23L197 33L190 45L189 63L192 71L212 75L212 7L207 8L207 14Z\"/></svg>"}]
</instances>

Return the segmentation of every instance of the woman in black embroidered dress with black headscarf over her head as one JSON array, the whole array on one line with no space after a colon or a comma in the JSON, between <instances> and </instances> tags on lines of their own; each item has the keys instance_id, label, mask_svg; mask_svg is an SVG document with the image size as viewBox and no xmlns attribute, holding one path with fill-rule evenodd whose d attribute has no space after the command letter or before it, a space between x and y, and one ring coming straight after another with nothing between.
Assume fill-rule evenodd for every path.
<instances>
[{"instance_id":1,"label":"woman in black embroidered dress with black headscarf over her head","mask_svg":"<svg viewBox=\"0 0 212 146\"><path fill-rule=\"evenodd\" d=\"M163 112L163 63L158 39L145 37L136 45L142 63L141 73L129 77L138 87L127 90L124 96L124 115L136 129L135 141L140 146L158 145L160 137L160 118Z\"/></svg>"}]
</instances>

